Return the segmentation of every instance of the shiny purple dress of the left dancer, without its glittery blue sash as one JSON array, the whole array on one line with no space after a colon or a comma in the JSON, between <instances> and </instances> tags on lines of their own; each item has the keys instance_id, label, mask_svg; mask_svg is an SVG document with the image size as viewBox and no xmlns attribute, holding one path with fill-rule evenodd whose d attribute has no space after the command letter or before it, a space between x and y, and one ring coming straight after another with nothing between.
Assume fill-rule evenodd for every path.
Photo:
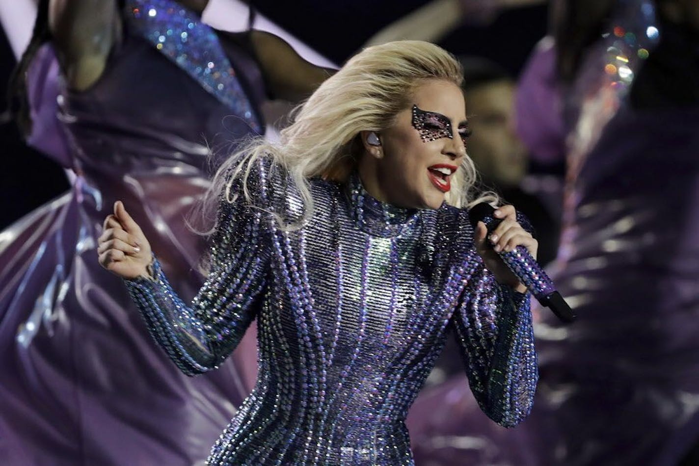
<instances>
[{"instance_id":1,"label":"shiny purple dress of the left dancer, without its glittery blue sash","mask_svg":"<svg viewBox=\"0 0 699 466\"><path fill-rule=\"evenodd\" d=\"M173 287L194 296L206 243L185 216L209 185L208 145L254 134L130 24L85 92L65 88L50 45L29 71L32 115L46 118L32 140L78 176L71 191L0 235L3 465L189 466L206 458L252 388L238 360L206 377L182 375L147 335L120 279L97 263L103 219L121 199ZM246 90L239 98L257 108L257 65L235 45L222 47ZM57 115L44 111L56 107ZM254 351L253 339L253 361Z\"/></svg>"}]
</instances>

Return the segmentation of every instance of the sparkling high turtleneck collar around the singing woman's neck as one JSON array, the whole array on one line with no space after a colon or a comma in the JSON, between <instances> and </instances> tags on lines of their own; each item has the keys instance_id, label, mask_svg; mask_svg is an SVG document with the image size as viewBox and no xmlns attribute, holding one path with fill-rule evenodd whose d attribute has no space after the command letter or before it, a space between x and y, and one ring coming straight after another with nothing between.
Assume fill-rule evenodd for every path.
<instances>
[{"instance_id":1,"label":"sparkling high turtleneck collar around the singing woman's neck","mask_svg":"<svg viewBox=\"0 0 699 466\"><path fill-rule=\"evenodd\" d=\"M356 171L349 177L347 189L352 218L361 231L389 238L410 231L417 224L419 209L405 209L379 201L366 192Z\"/></svg>"}]
</instances>

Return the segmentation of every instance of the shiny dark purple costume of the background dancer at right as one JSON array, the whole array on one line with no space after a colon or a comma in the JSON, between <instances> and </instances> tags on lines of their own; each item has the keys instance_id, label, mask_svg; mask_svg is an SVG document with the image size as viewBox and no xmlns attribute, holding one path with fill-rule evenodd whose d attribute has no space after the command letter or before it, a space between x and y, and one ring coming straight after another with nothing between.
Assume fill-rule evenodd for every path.
<instances>
[{"instance_id":1,"label":"shiny dark purple costume of the background dancer at right","mask_svg":"<svg viewBox=\"0 0 699 466\"><path fill-rule=\"evenodd\" d=\"M552 277L578 319L561 326L541 311L540 384L531 416L517 428L474 420L475 403L460 380L417 400L409 423L416 460L665 466L699 439L699 102L630 105L626 89L634 75L640 82L642 50L652 59L651 45L664 31L649 2L620 7L634 15L618 15L617 34L589 51L557 113L572 136ZM688 49L680 43L672 52L680 57ZM692 53L696 66L696 48ZM524 135L546 159L563 145L556 133L564 125L549 121L556 115L550 104L561 102L553 57L540 50L532 61L519 108L523 128L552 130ZM671 71L664 68L663 77ZM533 101L546 89L549 98ZM546 104L551 112L540 111Z\"/></svg>"}]
</instances>

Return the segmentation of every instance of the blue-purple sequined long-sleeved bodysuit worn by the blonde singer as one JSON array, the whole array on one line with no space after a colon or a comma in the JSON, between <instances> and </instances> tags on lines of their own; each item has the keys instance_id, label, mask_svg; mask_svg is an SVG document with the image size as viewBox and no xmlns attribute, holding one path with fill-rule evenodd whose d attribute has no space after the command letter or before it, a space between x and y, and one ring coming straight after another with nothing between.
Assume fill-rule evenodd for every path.
<instances>
[{"instance_id":1,"label":"blue-purple sequined long-sleeved bodysuit worn by the blonde singer","mask_svg":"<svg viewBox=\"0 0 699 466\"><path fill-rule=\"evenodd\" d=\"M257 167L253 198L300 214L300 198ZM398 209L356 175L310 186L314 215L294 231L243 198L222 202L212 270L191 305L157 260L153 280L127 281L187 374L221 363L258 319L257 385L208 463L412 465L404 419L449 329L484 412L521 421L538 379L528 295L484 268L466 210Z\"/></svg>"}]
</instances>

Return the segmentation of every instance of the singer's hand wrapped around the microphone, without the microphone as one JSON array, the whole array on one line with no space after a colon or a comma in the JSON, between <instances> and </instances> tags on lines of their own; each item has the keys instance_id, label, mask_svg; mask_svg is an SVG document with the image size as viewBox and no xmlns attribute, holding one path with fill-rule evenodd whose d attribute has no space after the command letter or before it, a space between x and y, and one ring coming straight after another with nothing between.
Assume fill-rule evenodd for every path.
<instances>
[{"instance_id":1,"label":"singer's hand wrapped around the microphone, without the microphone","mask_svg":"<svg viewBox=\"0 0 699 466\"><path fill-rule=\"evenodd\" d=\"M507 265L500 259L498 252L512 251L517 246L524 246L529 251L529 254L536 259L536 253L539 243L535 240L531 233L526 231L517 222L517 212L512 205L503 205L495 211L495 217L503 219L495 230L489 235L488 229L482 221L479 221L474 234L474 242L476 251L482 257L485 266L493 272L496 280L502 284L512 286L513 289L524 293L526 287L519 282L512 271L507 268ZM490 247L489 242L492 247Z\"/></svg>"}]
</instances>

